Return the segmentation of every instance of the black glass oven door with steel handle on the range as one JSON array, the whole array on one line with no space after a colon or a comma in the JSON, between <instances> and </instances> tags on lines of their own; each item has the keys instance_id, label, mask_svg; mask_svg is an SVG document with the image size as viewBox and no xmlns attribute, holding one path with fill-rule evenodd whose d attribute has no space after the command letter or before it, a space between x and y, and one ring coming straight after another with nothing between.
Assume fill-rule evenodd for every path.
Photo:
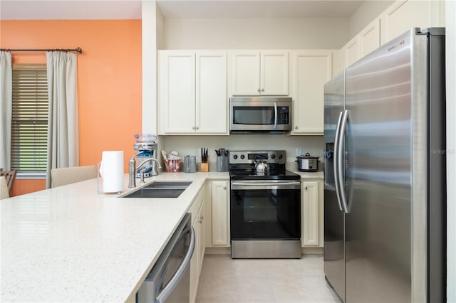
<instances>
[{"instance_id":1,"label":"black glass oven door with steel handle on the range","mask_svg":"<svg viewBox=\"0 0 456 303\"><path fill-rule=\"evenodd\" d=\"M299 181L232 181L232 240L301 239Z\"/></svg>"}]
</instances>

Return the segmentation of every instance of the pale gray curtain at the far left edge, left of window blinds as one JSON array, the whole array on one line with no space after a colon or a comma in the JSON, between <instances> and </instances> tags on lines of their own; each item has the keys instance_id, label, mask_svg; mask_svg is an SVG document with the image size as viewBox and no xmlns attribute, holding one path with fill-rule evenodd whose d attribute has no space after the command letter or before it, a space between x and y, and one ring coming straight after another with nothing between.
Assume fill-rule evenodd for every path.
<instances>
[{"instance_id":1,"label":"pale gray curtain at the far left edge, left of window blinds","mask_svg":"<svg viewBox=\"0 0 456 303\"><path fill-rule=\"evenodd\" d=\"M11 110L13 87L11 53L0 51L0 168L11 168Z\"/></svg>"}]
</instances>

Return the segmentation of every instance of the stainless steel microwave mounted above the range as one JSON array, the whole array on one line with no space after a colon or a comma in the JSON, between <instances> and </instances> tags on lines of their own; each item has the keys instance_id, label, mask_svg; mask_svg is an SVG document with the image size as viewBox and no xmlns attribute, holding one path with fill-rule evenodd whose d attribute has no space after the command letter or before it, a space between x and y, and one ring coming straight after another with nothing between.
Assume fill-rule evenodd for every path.
<instances>
[{"instance_id":1,"label":"stainless steel microwave mounted above the range","mask_svg":"<svg viewBox=\"0 0 456 303\"><path fill-rule=\"evenodd\" d=\"M231 134L291 131L291 97L229 98L229 132Z\"/></svg>"}]
</instances>

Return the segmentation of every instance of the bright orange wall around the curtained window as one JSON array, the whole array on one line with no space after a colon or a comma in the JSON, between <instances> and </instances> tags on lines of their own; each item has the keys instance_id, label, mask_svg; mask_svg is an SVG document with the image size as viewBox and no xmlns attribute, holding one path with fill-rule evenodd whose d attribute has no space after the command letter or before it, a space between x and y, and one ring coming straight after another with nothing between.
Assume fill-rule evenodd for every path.
<instances>
[{"instance_id":1,"label":"bright orange wall around the curtained window","mask_svg":"<svg viewBox=\"0 0 456 303\"><path fill-rule=\"evenodd\" d=\"M1 48L76 48L79 164L93 165L104 150L124 151L124 171L141 132L141 20L0 21ZM45 53L12 53L13 63L46 63ZM12 195L45 188L16 180Z\"/></svg>"}]
</instances>

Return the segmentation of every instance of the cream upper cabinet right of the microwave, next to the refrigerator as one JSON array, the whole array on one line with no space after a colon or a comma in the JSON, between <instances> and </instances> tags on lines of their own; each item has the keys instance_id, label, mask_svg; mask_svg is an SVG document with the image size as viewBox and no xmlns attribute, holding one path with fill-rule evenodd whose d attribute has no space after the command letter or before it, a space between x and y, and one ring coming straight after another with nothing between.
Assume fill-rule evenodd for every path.
<instances>
[{"instance_id":1,"label":"cream upper cabinet right of the microwave, next to the refrigerator","mask_svg":"<svg viewBox=\"0 0 456 303\"><path fill-rule=\"evenodd\" d=\"M331 50L299 50L294 53L291 134L323 134L324 84L331 77Z\"/></svg>"}]
</instances>

